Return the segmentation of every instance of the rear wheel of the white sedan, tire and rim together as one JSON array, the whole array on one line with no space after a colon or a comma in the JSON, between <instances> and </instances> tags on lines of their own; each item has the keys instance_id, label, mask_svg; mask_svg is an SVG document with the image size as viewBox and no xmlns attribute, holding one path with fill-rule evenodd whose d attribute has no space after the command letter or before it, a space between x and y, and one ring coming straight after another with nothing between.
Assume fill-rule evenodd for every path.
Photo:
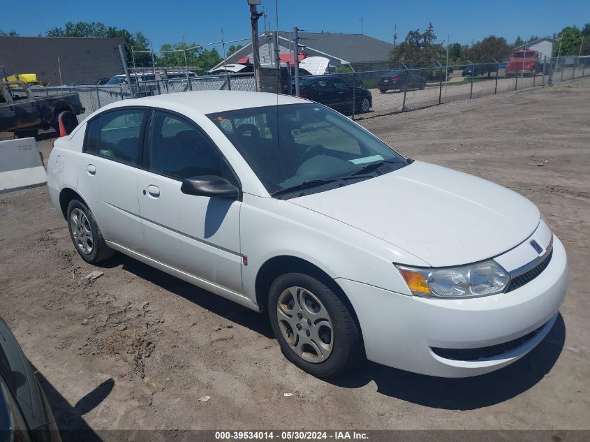
<instances>
[{"instance_id":1,"label":"rear wheel of the white sedan, tire and rim together","mask_svg":"<svg viewBox=\"0 0 590 442\"><path fill-rule=\"evenodd\" d=\"M99 263L115 254L105 243L94 215L84 202L78 199L70 201L68 226L76 251L87 263Z\"/></svg>"}]
</instances>

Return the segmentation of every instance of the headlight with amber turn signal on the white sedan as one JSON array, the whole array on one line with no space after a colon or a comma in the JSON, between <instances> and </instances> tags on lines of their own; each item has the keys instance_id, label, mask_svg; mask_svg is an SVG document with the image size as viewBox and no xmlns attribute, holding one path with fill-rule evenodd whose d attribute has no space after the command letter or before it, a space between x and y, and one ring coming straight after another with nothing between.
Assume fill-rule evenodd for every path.
<instances>
[{"instance_id":1,"label":"headlight with amber turn signal on the white sedan","mask_svg":"<svg viewBox=\"0 0 590 442\"><path fill-rule=\"evenodd\" d=\"M413 295L423 297L475 297L502 293L510 276L494 260L460 267L425 269L396 265Z\"/></svg>"}]
</instances>

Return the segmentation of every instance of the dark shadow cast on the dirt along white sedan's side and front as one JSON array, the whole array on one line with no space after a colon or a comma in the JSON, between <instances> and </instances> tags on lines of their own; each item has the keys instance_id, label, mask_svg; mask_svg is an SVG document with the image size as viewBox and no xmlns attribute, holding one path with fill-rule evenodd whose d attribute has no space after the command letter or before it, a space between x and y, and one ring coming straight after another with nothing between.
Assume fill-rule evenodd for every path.
<instances>
[{"instance_id":1,"label":"dark shadow cast on the dirt along white sedan's side and front","mask_svg":"<svg viewBox=\"0 0 590 442\"><path fill-rule=\"evenodd\" d=\"M256 313L121 253L100 265L106 268L121 265L137 277L182 296L228 321L274 339L265 314ZM554 366L565 340L566 326L559 314L549 334L533 351L514 364L489 374L473 378L437 378L364 361L343 376L327 382L344 388L360 388L374 381L382 395L433 408L472 410L499 404L536 385Z\"/></svg>"}]
</instances>

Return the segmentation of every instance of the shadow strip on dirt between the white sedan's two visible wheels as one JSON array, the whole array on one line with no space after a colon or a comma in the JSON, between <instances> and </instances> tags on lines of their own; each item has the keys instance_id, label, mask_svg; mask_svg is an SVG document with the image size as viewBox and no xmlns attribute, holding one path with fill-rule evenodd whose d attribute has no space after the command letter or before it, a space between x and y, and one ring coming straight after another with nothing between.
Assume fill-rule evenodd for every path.
<instances>
[{"instance_id":1,"label":"shadow strip on dirt between the white sedan's two visible wheels","mask_svg":"<svg viewBox=\"0 0 590 442\"><path fill-rule=\"evenodd\" d=\"M226 300L224 297L193 286L191 283L182 281L182 279L173 277L122 253L117 253L114 257L98 265L105 268L122 266L123 270L133 273L138 278L145 279L175 295L182 296L203 309L226 318L228 321L248 327L268 339L274 339L267 315L257 313L233 301Z\"/></svg>"}]
</instances>

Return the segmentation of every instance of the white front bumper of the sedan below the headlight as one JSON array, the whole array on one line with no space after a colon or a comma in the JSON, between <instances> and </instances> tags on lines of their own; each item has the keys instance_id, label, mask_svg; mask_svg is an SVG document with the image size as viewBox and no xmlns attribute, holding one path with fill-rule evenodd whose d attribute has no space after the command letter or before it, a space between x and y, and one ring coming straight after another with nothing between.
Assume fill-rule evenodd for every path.
<instances>
[{"instance_id":1,"label":"white front bumper of the sedan below the headlight","mask_svg":"<svg viewBox=\"0 0 590 442\"><path fill-rule=\"evenodd\" d=\"M545 270L524 286L499 295L427 299L336 279L357 315L367 358L450 378L485 374L522 358L550 332L566 293L566 251L559 239L553 238L553 256ZM519 340L522 337L525 339ZM500 345L506 343L512 345ZM485 354L492 346L505 351L464 360L439 355L448 355L452 349L460 355L465 349L476 348Z\"/></svg>"}]
</instances>

